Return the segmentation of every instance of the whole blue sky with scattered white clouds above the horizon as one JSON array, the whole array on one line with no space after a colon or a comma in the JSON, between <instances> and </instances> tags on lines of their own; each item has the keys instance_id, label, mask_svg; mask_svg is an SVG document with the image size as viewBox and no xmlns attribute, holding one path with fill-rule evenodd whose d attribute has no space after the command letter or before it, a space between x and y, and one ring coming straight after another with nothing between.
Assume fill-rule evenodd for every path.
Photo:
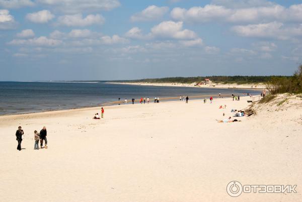
<instances>
[{"instance_id":1,"label":"whole blue sky with scattered white clouds above the horizon","mask_svg":"<svg viewBox=\"0 0 302 202\"><path fill-rule=\"evenodd\" d=\"M0 80L291 75L302 2L0 0Z\"/></svg>"}]
</instances>

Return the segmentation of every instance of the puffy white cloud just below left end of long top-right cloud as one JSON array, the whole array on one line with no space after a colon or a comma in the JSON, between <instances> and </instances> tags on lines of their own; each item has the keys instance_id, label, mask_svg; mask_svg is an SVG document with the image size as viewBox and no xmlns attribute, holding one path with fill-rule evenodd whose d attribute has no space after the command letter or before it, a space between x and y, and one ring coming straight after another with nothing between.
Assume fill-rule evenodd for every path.
<instances>
[{"instance_id":1,"label":"puffy white cloud just below left end of long top-right cloud","mask_svg":"<svg viewBox=\"0 0 302 202\"><path fill-rule=\"evenodd\" d=\"M151 29L151 33L159 38L195 39L195 32L183 29L183 22L164 21Z\"/></svg>"}]
</instances>

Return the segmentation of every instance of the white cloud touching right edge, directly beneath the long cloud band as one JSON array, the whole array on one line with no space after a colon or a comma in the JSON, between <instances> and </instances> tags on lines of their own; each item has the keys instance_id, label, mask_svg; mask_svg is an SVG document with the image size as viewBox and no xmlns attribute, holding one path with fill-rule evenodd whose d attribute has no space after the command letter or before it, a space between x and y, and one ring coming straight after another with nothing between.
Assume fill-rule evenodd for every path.
<instances>
[{"instance_id":1,"label":"white cloud touching right edge, directly beneath the long cloud band","mask_svg":"<svg viewBox=\"0 0 302 202\"><path fill-rule=\"evenodd\" d=\"M278 22L234 26L232 30L238 35L244 37L262 37L288 40L294 36L302 36L302 25L285 27L283 23Z\"/></svg>"}]
</instances>

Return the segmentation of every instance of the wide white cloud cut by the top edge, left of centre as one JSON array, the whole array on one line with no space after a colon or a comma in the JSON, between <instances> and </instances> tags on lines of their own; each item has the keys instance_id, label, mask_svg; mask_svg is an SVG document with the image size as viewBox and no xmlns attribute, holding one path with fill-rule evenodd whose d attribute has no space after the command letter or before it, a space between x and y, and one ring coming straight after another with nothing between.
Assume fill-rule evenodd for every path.
<instances>
[{"instance_id":1,"label":"wide white cloud cut by the top edge, left of centre","mask_svg":"<svg viewBox=\"0 0 302 202\"><path fill-rule=\"evenodd\" d=\"M69 14L109 11L120 6L118 0L37 0L37 2Z\"/></svg>"}]
</instances>

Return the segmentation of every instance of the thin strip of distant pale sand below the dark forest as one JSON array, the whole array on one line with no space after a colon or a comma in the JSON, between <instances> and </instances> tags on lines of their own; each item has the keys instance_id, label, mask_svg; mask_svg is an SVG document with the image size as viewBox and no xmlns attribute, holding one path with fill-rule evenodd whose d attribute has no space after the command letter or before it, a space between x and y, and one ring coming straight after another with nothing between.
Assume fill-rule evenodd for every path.
<instances>
[{"instance_id":1,"label":"thin strip of distant pale sand below the dark forest","mask_svg":"<svg viewBox=\"0 0 302 202\"><path fill-rule=\"evenodd\" d=\"M122 84L122 85L146 85L146 86L170 86L170 87L195 87L195 88L228 88L228 89L266 89L263 83L256 84L222 84L211 83L209 85L196 86L195 83L148 83L148 82L104 82L110 84Z\"/></svg>"}]
</instances>

